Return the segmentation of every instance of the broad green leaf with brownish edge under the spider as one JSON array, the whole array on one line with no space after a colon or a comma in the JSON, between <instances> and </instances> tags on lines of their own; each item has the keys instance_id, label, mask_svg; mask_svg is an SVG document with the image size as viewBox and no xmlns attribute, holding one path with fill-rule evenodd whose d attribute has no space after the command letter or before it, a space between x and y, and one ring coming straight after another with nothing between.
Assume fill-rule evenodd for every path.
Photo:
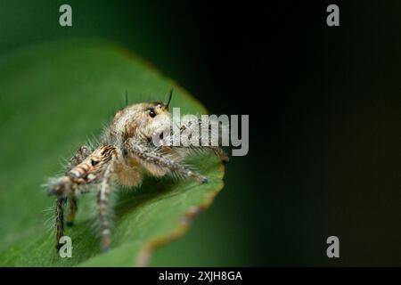
<instances>
[{"instance_id":1,"label":"broad green leaf with brownish edge under the spider","mask_svg":"<svg viewBox=\"0 0 401 285\"><path fill-rule=\"evenodd\" d=\"M88 138L102 132L129 102L165 100L182 113L206 110L182 88L120 46L101 40L45 43L0 59L0 265L148 265L154 248L176 239L223 187L224 167L213 155L191 158L209 183L147 178L118 191L113 243L103 253L93 229L94 195L79 199L67 227L72 257L54 248L53 198L41 190ZM200 237L201 238L201 237Z\"/></svg>"}]
</instances>

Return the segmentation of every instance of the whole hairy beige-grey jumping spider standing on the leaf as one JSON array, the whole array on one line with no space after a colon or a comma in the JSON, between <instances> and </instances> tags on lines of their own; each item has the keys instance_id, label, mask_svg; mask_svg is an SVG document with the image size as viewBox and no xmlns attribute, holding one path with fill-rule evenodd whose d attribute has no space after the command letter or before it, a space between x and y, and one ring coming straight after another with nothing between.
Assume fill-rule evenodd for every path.
<instances>
[{"instance_id":1,"label":"whole hairy beige-grey jumping spider standing on the leaf","mask_svg":"<svg viewBox=\"0 0 401 285\"><path fill-rule=\"evenodd\" d=\"M171 99L171 93L168 103ZM64 231L64 208L69 202L67 224L72 224L77 211L76 196L86 191L97 192L97 211L102 235L102 248L110 248L110 192L116 184L135 186L143 174L163 176L173 174L207 183L207 177L184 164L185 155L192 150L210 149L220 159L225 153L216 146L157 146L153 138L170 128L168 103L143 102L128 106L116 113L97 147L81 146L70 159L65 175L53 178L46 187L56 201L56 244ZM188 122L187 122L188 123ZM198 121L181 126L180 130L196 126ZM200 137L201 140L201 137Z\"/></svg>"}]
</instances>

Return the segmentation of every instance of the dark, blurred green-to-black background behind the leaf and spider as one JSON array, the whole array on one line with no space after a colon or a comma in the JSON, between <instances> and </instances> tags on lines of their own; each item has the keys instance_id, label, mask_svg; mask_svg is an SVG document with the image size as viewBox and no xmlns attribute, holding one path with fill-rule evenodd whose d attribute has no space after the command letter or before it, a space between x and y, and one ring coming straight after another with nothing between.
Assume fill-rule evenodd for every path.
<instances>
[{"instance_id":1,"label":"dark, blurred green-to-black background behind the leaf and spider","mask_svg":"<svg viewBox=\"0 0 401 285\"><path fill-rule=\"evenodd\" d=\"M401 265L401 4L340 3L337 28L327 4L0 0L0 53L102 37L210 113L250 115L249 154L152 265Z\"/></svg>"}]
</instances>

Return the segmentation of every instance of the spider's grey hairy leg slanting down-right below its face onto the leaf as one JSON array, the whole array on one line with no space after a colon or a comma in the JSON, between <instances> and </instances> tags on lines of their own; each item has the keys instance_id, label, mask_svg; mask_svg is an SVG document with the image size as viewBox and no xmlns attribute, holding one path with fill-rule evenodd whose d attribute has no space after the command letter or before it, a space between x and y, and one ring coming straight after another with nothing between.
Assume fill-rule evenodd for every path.
<instances>
[{"instance_id":1,"label":"spider's grey hairy leg slanting down-right below its face onto the leaf","mask_svg":"<svg viewBox=\"0 0 401 285\"><path fill-rule=\"evenodd\" d=\"M127 151L133 153L138 159L145 163L151 163L154 166L167 168L169 171L181 175L185 178L191 178L200 183L208 183L206 176L200 175L192 169L186 167L180 160L168 157L155 148L152 148L149 143L136 142L135 139L129 138L124 143Z\"/></svg>"}]
</instances>

